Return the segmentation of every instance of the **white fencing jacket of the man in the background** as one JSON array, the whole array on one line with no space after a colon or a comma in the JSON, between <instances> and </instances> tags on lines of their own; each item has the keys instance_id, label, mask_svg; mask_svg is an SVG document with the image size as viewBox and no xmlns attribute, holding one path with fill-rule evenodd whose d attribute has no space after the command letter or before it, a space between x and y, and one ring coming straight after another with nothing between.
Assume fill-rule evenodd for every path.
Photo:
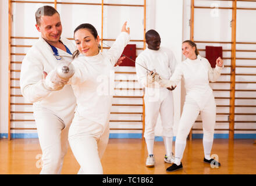
<instances>
[{"instance_id":1,"label":"white fencing jacket of the man in the background","mask_svg":"<svg viewBox=\"0 0 256 186\"><path fill-rule=\"evenodd\" d=\"M136 58L136 63L146 67L148 70L156 70L160 77L168 79L175 71L176 58L170 49L166 47L160 47L158 51L146 48ZM149 95L156 95L154 88L147 87L147 70L136 64L136 74L138 82L146 88L145 96L147 92ZM160 88L166 91L166 88L161 87L159 84L155 84L155 88ZM156 90L159 91L159 90ZM154 93L153 93L154 92Z\"/></svg>"}]
</instances>

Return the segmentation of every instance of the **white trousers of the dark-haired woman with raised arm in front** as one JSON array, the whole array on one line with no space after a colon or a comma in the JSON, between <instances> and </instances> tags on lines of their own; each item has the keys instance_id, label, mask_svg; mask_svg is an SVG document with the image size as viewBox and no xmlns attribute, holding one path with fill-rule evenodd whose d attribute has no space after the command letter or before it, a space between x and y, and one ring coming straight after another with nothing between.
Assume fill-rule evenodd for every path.
<instances>
[{"instance_id":1,"label":"white trousers of the dark-haired woman with raised arm in front","mask_svg":"<svg viewBox=\"0 0 256 186\"><path fill-rule=\"evenodd\" d=\"M106 126L74 116L69 129L69 144L80 164L79 174L103 174L101 158L109 139L109 124Z\"/></svg>"}]
</instances>

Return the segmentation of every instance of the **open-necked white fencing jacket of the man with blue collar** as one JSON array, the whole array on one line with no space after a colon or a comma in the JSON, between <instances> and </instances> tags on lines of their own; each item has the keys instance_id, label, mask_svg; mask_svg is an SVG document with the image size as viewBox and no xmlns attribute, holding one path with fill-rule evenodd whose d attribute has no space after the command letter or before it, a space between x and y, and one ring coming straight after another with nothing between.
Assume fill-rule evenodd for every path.
<instances>
[{"instance_id":1,"label":"open-necked white fencing jacket of the man with blue collar","mask_svg":"<svg viewBox=\"0 0 256 186\"><path fill-rule=\"evenodd\" d=\"M61 41L69 48L70 52L73 53L76 50L72 41L66 38L61 38ZM72 61L72 55L69 53L61 49L58 49L58 52L61 60ZM34 109L49 109L65 121L70 113L74 113L76 107L76 98L72 87L67 85L59 91L48 91L42 84L42 71L49 73L55 69L59 61L55 58L49 44L40 37L23 59L20 72L20 89L24 98L33 103Z\"/></svg>"}]
</instances>

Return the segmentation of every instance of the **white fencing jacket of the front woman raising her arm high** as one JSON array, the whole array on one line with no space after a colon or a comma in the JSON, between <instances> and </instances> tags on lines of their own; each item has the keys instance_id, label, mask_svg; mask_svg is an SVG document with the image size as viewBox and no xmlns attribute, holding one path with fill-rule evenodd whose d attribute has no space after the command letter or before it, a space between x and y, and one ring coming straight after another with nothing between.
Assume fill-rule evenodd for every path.
<instances>
[{"instance_id":1,"label":"white fencing jacket of the front woman raising her arm high","mask_svg":"<svg viewBox=\"0 0 256 186\"><path fill-rule=\"evenodd\" d=\"M129 41L130 35L122 32L106 53L99 52L95 56L80 54L73 60L75 73L69 84L72 84L77 98L79 116L104 127L108 124L115 83L113 66Z\"/></svg>"}]
</instances>

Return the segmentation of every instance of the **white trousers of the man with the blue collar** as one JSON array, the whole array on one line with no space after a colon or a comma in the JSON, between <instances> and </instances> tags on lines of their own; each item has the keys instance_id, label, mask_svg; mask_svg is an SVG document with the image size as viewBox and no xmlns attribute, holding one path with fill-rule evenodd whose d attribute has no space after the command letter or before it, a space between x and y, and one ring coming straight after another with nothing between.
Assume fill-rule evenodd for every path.
<instances>
[{"instance_id":1,"label":"white trousers of the man with the blue collar","mask_svg":"<svg viewBox=\"0 0 256 186\"><path fill-rule=\"evenodd\" d=\"M74 114L66 123L48 109L34 109L38 139L42 149L40 174L61 174L64 156L68 148L68 131Z\"/></svg>"}]
</instances>

